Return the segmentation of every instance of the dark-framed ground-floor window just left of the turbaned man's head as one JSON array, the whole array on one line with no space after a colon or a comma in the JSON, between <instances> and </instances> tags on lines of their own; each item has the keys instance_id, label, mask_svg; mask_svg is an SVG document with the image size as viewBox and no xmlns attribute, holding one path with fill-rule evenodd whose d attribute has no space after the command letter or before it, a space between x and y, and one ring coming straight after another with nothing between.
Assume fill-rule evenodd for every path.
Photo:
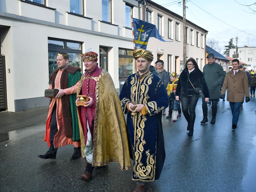
<instances>
[{"instance_id":1,"label":"dark-framed ground-floor window just left of the turbaned man's head","mask_svg":"<svg viewBox=\"0 0 256 192\"><path fill-rule=\"evenodd\" d=\"M119 49L119 79L126 79L133 74L134 58L132 52L131 49Z\"/></svg>"}]
</instances>

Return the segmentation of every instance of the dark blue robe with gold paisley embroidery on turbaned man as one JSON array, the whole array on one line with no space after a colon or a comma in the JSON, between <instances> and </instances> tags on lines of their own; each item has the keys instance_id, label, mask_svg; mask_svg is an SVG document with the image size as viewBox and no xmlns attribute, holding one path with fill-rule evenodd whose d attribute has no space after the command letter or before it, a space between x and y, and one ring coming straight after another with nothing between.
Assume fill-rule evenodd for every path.
<instances>
[{"instance_id":1,"label":"dark blue robe with gold paisley embroidery on turbaned man","mask_svg":"<svg viewBox=\"0 0 256 192\"><path fill-rule=\"evenodd\" d=\"M161 79L151 72L141 78L138 73L126 80L120 93L122 109L127 114L128 140L134 161L132 180L154 181L163 169L165 150L162 130L162 110L169 105ZM148 113L132 113L127 104L144 104Z\"/></svg>"}]
</instances>

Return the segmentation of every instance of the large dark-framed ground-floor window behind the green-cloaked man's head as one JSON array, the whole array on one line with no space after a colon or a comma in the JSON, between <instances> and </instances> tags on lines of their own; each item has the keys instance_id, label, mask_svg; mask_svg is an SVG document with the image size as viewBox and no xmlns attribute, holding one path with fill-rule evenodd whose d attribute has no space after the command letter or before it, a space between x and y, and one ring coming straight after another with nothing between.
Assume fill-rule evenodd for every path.
<instances>
[{"instance_id":1,"label":"large dark-framed ground-floor window behind the green-cloaked man's head","mask_svg":"<svg viewBox=\"0 0 256 192\"><path fill-rule=\"evenodd\" d=\"M64 39L48 38L48 66L49 78L52 72L58 68L57 66L57 53L67 52L69 55L69 64L81 67L82 60L82 43Z\"/></svg>"}]
</instances>

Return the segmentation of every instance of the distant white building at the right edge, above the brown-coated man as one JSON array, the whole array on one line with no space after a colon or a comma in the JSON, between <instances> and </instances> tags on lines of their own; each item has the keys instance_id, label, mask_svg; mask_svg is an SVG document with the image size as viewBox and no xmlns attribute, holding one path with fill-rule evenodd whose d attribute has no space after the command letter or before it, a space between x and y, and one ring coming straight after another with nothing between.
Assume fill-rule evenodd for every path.
<instances>
[{"instance_id":1,"label":"distant white building at the right edge, above the brown-coated man","mask_svg":"<svg viewBox=\"0 0 256 192\"><path fill-rule=\"evenodd\" d=\"M236 58L236 48L229 49L229 57ZM239 47L237 48L237 59L246 63L249 70L256 69L256 47ZM250 66L251 65L251 66Z\"/></svg>"}]
</instances>

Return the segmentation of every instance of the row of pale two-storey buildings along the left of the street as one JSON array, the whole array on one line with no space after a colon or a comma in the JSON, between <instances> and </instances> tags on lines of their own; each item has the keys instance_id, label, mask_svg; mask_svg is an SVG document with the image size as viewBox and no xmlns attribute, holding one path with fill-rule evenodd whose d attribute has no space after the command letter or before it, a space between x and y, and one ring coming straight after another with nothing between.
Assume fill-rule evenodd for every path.
<instances>
[{"instance_id":1,"label":"row of pale two-storey buildings along the left of the street","mask_svg":"<svg viewBox=\"0 0 256 192\"><path fill-rule=\"evenodd\" d=\"M150 38L147 49L154 62L162 59L166 70L180 73L182 17L147 2L146 18L161 28L166 41L172 41ZM0 109L16 112L48 106L44 90L61 51L68 52L70 64L82 72L81 53L97 52L99 66L110 73L120 92L135 72L131 15L139 17L137 0L0 0ZM187 57L202 69L207 31L189 21L187 27Z\"/></svg>"}]
</instances>

